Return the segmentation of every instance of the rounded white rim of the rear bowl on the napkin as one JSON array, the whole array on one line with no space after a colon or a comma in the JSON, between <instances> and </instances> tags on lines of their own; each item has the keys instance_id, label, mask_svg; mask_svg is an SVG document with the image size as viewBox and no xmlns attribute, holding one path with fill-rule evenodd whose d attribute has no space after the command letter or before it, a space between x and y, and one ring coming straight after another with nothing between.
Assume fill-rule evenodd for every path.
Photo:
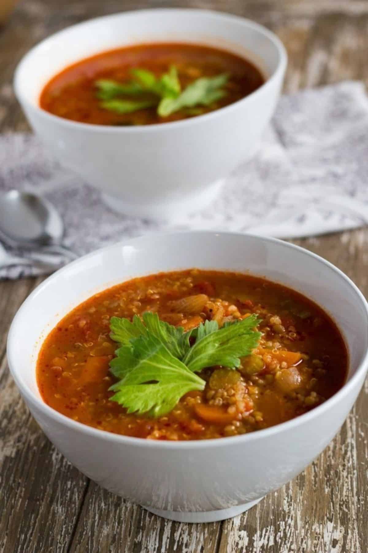
<instances>
[{"instance_id":1,"label":"rounded white rim of the rear bowl on the napkin","mask_svg":"<svg viewBox=\"0 0 368 553\"><path fill-rule=\"evenodd\" d=\"M261 85L259 88L257 88L257 90L255 90L252 93L248 94L248 96L245 96L244 98L241 98L241 100L237 100L236 102L233 102L233 103L229 104L228 106L224 106L224 107L221 107L219 109L215 109L215 111L212 111L210 113L204 113L200 116L191 117L189 119L182 119L182 120L179 120L179 121L170 121L170 122L167 122L167 123L164 123L164 124L163 123L154 123L152 125L137 125L136 127L117 127L117 126L113 126L113 125L97 125L97 124L92 124L92 123L82 123L82 122L79 122L79 121L71 121L70 119L59 117L57 115L54 115L54 114L46 111L45 109L42 109L39 105L39 101L36 103L36 105L34 105L34 103L31 102L25 94L23 94L22 87L20 86L20 72L23 70L23 67L27 64L27 62L28 62L29 58L31 58L31 56L37 54L39 49L43 48L44 45L47 44L48 42L51 43L53 40L55 40L57 38L60 38L60 36L62 36L63 33L67 33L71 29L87 27L90 23L98 22L100 20L108 20L108 19L114 19L114 18L118 19L120 17L121 18L125 17L126 15L129 16L129 15L134 15L134 14L142 14L142 15L146 14L147 16L149 16L149 15L152 15L153 13L164 14L164 13L173 13L173 12L178 13L178 16L180 16L180 13L192 13L192 14L198 13L198 14L204 15L205 17L221 19L221 20L223 20L223 22L233 21L233 22L242 23L246 27L253 28L253 29L257 30L260 34L263 34L264 36L266 36L270 40L270 42L274 45L276 50L278 51L279 61L278 61L278 65L277 65L273 75L271 75L268 79L266 79L265 82L263 83L263 85ZM142 42L142 44L146 44L146 43ZM147 44L150 44L150 43L147 43ZM184 44L184 42L183 42L183 44ZM111 49L103 50L101 53L103 53L104 51L107 52L109 50L111 50ZM82 58L79 61L82 61L83 59L86 59L86 58ZM50 123L60 124L62 127L74 129L75 131L78 131L78 130L83 131L83 129L88 131L88 129L89 129L91 132L98 132L98 133L108 132L108 133L112 133L112 134L115 134L115 133L130 134L130 133L142 133L142 132L152 133L152 132L157 132L157 131L170 132L170 130L173 129L173 128L177 129L177 128L181 128L181 127L190 126L190 125L193 125L193 124L198 124L198 120L200 122L210 121L211 119L214 119L216 117L220 117L222 114L229 113L231 110L234 110L234 109L236 109L240 106L243 106L244 102L247 102L247 101L249 102L250 98L257 98L257 96L259 96L261 93L263 93L264 91L267 91L274 84L274 82L279 78L280 75L281 75L281 78L282 78L282 75L284 75L284 72L285 72L285 69L286 69L286 65L287 65L287 53L286 53L285 46L284 46L284 44L282 44L279 37L275 33L273 33L271 30L264 27L264 25L261 25L260 23L256 23L256 22L252 21L251 19L247 19L247 18L241 17L239 15L232 15L232 14L229 14L229 13L218 12L218 11L210 10L210 9L200 9L200 8L198 8L198 9L196 9L196 8L136 9L136 10L131 10L131 11L127 11L127 12L118 12L118 13L109 14L109 15L102 15L100 17L95 17L95 18L92 18L92 19L87 19L86 21L83 21L81 23L76 23L74 25L69 25L65 29L62 29L62 30L60 30L56 33L53 33L50 36L47 36L44 40L41 40L38 44L33 46L33 48L31 48L22 57L22 59L20 59L20 61L18 62L18 65L17 65L17 67L15 68L15 71L14 71L13 87L14 87L15 96L17 97L20 104L22 104L22 105L24 104L24 105L28 106L29 108L34 109L40 117L46 119L46 121L49 121ZM68 67L68 66L66 66L66 67ZM60 71L58 71L55 75L57 75L58 73L60 73ZM53 77L51 77L51 78L53 78ZM50 81L50 79L47 82L49 82L49 81ZM41 94L44 86L40 89L40 94Z\"/></svg>"}]
</instances>

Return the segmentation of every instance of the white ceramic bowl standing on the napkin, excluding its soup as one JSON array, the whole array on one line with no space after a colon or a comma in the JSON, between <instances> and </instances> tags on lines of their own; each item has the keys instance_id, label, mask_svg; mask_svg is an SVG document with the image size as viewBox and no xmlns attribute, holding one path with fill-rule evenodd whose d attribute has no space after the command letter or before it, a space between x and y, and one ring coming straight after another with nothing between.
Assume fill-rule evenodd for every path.
<instances>
[{"instance_id":1,"label":"white ceramic bowl standing on the napkin, excluding its soup","mask_svg":"<svg viewBox=\"0 0 368 553\"><path fill-rule=\"evenodd\" d=\"M243 100L186 121L143 127L67 121L39 107L44 85L83 58L130 44L176 41L217 46L253 60L266 82ZM35 132L65 166L103 191L115 210L172 218L207 204L221 179L257 148L286 67L280 40L262 25L193 9L153 9L74 25L20 61L15 93Z\"/></svg>"}]
</instances>

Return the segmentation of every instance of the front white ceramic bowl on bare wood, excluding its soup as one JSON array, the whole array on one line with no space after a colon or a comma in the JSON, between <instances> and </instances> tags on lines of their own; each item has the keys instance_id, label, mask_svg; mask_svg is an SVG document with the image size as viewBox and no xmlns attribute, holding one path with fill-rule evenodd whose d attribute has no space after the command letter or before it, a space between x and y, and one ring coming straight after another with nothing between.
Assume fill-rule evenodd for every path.
<instances>
[{"instance_id":1,"label":"front white ceramic bowl on bare wood, excluding its soup","mask_svg":"<svg viewBox=\"0 0 368 553\"><path fill-rule=\"evenodd\" d=\"M42 401L36 359L57 321L111 285L192 267L264 275L316 301L337 322L349 349L344 387L321 406L284 424L243 436L190 442L110 434L68 419ZM120 242L50 276L14 318L8 361L34 418L80 471L153 513L205 522L252 507L321 453L343 424L364 382L367 348L368 305L351 280L327 261L276 239L189 232Z\"/></svg>"}]
</instances>

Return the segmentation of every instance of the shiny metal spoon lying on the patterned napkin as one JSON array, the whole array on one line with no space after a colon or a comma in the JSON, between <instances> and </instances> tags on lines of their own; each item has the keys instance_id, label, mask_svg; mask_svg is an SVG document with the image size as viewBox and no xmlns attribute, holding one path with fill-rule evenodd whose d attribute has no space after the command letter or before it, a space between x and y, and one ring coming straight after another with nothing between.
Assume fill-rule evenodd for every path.
<instances>
[{"instance_id":1,"label":"shiny metal spoon lying on the patterned napkin","mask_svg":"<svg viewBox=\"0 0 368 553\"><path fill-rule=\"evenodd\" d=\"M64 224L55 207L30 192L10 190L0 196L0 237L8 246L78 256L61 246Z\"/></svg>"}]
</instances>

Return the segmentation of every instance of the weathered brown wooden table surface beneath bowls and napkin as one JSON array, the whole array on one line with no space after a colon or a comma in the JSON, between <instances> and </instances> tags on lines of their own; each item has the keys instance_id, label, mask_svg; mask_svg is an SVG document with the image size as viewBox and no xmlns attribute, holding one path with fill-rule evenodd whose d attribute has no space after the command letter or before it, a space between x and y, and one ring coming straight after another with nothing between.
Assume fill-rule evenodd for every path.
<instances>
[{"instance_id":1,"label":"weathered brown wooden table surface beneath bowls and napkin","mask_svg":"<svg viewBox=\"0 0 368 553\"><path fill-rule=\"evenodd\" d=\"M364 0L24 0L0 30L1 131L29 130L13 95L12 76L36 42L90 17L183 5L243 15L274 30L289 53L285 92L343 79L368 81ZM367 229L297 243L337 265L368 294ZM79 473L20 399L7 368L7 330L40 281L0 283L1 552L367 553L368 384L322 455L257 507L221 523L167 521Z\"/></svg>"}]
</instances>

